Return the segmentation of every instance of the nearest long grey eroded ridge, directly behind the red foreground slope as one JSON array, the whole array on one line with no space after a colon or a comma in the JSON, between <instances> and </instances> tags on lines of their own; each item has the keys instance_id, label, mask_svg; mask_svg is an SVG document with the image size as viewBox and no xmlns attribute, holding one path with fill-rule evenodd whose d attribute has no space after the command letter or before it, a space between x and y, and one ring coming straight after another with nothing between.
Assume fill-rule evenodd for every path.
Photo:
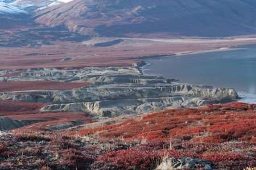
<instances>
[{"instance_id":1,"label":"nearest long grey eroded ridge, directly behind the red foreground slope","mask_svg":"<svg viewBox=\"0 0 256 170\"><path fill-rule=\"evenodd\" d=\"M147 99L102 100L86 103L53 104L41 112L87 112L94 116L116 117L121 114L146 113L164 109L198 107L210 103L200 98L160 97Z\"/></svg>"}]
</instances>

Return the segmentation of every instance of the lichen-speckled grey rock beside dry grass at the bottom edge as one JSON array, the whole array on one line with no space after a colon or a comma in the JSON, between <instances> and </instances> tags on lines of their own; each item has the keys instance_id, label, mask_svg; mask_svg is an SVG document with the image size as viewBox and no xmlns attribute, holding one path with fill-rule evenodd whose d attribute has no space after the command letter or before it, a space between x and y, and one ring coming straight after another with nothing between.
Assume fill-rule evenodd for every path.
<instances>
[{"instance_id":1,"label":"lichen-speckled grey rock beside dry grass at the bottom edge","mask_svg":"<svg viewBox=\"0 0 256 170\"><path fill-rule=\"evenodd\" d=\"M201 167L210 170L212 169L212 163L204 159L182 156L181 158L168 158L164 160L156 170L190 169Z\"/></svg>"}]
</instances>

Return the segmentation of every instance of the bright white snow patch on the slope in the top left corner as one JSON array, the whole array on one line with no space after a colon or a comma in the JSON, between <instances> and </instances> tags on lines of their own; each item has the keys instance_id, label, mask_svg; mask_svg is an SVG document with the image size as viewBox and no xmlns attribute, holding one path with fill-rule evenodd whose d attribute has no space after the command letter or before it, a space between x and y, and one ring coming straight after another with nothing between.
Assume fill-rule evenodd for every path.
<instances>
[{"instance_id":1,"label":"bright white snow patch on the slope in the top left corner","mask_svg":"<svg viewBox=\"0 0 256 170\"><path fill-rule=\"evenodd\" d=\"M27 11L21 10L18 7L9 5L5 2L0 2L0 14L10 15L10 14L28 14Z\"/></svg>"}]
</instances>

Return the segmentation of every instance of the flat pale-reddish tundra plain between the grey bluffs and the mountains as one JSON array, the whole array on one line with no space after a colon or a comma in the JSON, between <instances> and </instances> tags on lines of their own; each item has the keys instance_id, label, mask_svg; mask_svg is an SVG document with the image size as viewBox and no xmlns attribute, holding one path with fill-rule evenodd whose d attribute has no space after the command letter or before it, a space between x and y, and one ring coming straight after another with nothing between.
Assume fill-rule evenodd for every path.
<instances>
[{"instance_id":1,"label":"flat pale-reddish tundra plain between the grey bluffs and the mountains","mask_svg":"<svg viewBox=\"0 0 256 170\"><path fill-rule=\"evenodd\" d=\"M2 26L2 25L1 25ZM241 37L245 38L245 37ZM150 39L148 39L150 40ZM192 40L192 41L191 41ZM51 68L84 68L98 67L130 67L133 63L141 61L143 56L154 56L159 54L175 54L187 52L199 52L204 50L220 49L226 46L237 46L255 44L254 39L224 39L224 40L196 40L188 39L176 42L128 42L127 45L114 45L106 47L85 46L81 42L54 41L53 47L43 45L38 48L1 48L0 69L28 69L39 67ZM193 45L196 44L196 45ZM27 56L33 53L45 54L46 56ZM47 54L52 54L49 57ZM65 57L73 59L64 61ZM134 59L137 57L138 59ZM125 59L125 61L124 61Z\"/></svg>"}]
</instances>

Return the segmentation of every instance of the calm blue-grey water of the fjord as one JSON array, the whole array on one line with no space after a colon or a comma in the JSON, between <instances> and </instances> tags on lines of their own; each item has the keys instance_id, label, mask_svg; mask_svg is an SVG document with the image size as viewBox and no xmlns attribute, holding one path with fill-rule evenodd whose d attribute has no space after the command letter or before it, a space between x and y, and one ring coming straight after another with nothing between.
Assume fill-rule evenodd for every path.
<instances>
[{"instance_id":1,"label":"calm blue-grey water of the fjord","mask_svg":"<svg viewBox=\"0 0 256 170\"><path fill-rule=\"evenodd\" d=\"M234 88L242 101L256 103L256 45L232 50L191 53L147 61L145 74L179 79L182 83Z\"/></svg>"}]
</instances>

